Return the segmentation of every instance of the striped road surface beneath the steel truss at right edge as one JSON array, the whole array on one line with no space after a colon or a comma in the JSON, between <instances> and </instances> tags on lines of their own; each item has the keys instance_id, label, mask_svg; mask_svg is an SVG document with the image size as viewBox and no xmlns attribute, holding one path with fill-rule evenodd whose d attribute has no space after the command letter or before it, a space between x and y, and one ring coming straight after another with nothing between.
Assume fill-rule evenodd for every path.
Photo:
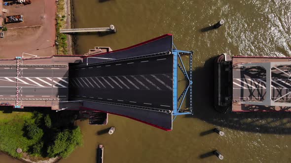
<instances>
[{"instance_id":1,"label":"striped road surface beneath the steel truss at right edge","mask_svg":"<svg viewBox=\"0 0 291 163\"><path fill-rule=\"evenodd\" d=\"M284 70L289 74L288 70ZM291 77L275 68L272 69L272 99L291 91ZM263 100L266 94L266 71L263 68L233 69L233 100ZM290 96L282 99L290 100Z\"/></svg>"}]
</instances>

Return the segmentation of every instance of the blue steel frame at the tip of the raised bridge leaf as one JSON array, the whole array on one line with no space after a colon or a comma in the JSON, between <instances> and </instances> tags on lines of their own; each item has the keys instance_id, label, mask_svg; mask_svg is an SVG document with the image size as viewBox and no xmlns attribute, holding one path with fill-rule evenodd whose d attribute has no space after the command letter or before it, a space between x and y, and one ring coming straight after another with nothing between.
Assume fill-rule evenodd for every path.
<instances>
[{"instance_id":1,"label":"blue steel frame at the tip of the raised bridge leaf","mask_svg":"<svg viewBox=\"0 0 291 163\"><path fill-rule=\"evenodd\" d=\"M177 50L175 45L173 44L172 54L174 55L174 66L173 66L173 121L176 119L177 115L185 115L185 114L193 114L192 111L192 54L193 52L190 51L181 51ZM186 68L183 64L181 55L189 55L189 74L186 71ZM178 61L178 58L181 64ZM185 78L188 80L188 85L182 92L182 94L178 98L178 71L179 69L184 74ZM189 91L189 108L188 109L181 109L184 99L186 97L187 92ZM181 101L182 100L182 101ZM181 101L180 105L179 102ZM179 106L178 106L179 105Z\"/></svg>"}]
</instances>

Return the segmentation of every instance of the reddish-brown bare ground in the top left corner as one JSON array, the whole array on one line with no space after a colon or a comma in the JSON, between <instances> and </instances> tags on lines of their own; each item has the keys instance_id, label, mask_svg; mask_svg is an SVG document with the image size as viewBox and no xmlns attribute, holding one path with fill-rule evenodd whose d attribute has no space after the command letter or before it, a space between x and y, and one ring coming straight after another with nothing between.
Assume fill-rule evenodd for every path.
<instances>
[{"instance_id":1,"label":"reddish-brown bare ground in the top left corner","mask_svg":"<svg viewBox=\"0 0 291 163\"><path fill-rule=\"evenodd\" d=\"M22 53L37 56L56 54L56 3L54 0L33 0L32 4L4 6L6 15L22 14L23 23L6 25L4 38L0 38L0 57L11 58Z\"/></svg>"}]
</instances>

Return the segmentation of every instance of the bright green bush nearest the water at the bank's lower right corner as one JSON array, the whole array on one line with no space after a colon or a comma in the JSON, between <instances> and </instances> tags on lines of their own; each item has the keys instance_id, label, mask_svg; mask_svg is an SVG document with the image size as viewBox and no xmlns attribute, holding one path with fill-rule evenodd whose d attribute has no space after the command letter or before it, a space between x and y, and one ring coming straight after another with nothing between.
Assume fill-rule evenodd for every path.
<instances>
[{"instance_id":1,"label":"bright green bush nearest the water at the bank's lower right corner","mask_svg":"<svg viewBox=\"0 0 291 163\"><path fill-rule=\"evenodd\" d=\"M48 157L60 156L68 157L74 150L75 146L82 144L82 133L79 127L69 131L65 130L57 134L55 141L48 147Z\"/></svg>"}]
</instances>

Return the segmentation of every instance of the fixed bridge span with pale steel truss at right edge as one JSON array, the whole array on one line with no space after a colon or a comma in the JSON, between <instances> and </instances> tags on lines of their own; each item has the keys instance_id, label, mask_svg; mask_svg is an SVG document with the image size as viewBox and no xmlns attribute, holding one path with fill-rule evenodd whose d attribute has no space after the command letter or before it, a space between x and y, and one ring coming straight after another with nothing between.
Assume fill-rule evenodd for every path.
<instances>
[{"instance_id":1,"label":"fixed bridge span with pale steel truss at right edge","mask_svg":"<svg viewBox=\"0 0 291 163\"><path fill-rule=\"evenodd\" d=\"M237 63L289 61L288 58L233 58L233 111L290 111L290 107L243 105L240 101L263 101L266 97L266 70L262 67L239 68ZM285 69L289 73L290 69ZM271 98L276 100L291 91L291 78L278 69L271 69ZM290 102L284 96L276 102Z\"/></svg>"}]
</instances>

